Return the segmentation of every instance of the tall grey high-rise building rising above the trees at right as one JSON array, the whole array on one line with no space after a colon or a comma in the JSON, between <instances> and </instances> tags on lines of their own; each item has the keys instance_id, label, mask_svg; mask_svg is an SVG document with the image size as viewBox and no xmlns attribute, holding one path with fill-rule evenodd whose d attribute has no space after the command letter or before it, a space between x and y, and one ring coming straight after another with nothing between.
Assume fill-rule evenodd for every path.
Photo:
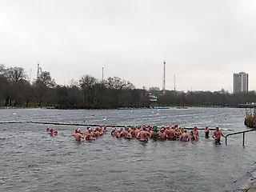
<instances>
[{"instance_id":1,"label":"tall grey high-rise building rising above the trees at right","mask_svg":"<svg viewBox=\"0 0 256 192\"><path fill-rule=\"evenodd\" d=\"M233 93L248 92L248 74L233 74Z\"/></svg>"}]
</instances>

